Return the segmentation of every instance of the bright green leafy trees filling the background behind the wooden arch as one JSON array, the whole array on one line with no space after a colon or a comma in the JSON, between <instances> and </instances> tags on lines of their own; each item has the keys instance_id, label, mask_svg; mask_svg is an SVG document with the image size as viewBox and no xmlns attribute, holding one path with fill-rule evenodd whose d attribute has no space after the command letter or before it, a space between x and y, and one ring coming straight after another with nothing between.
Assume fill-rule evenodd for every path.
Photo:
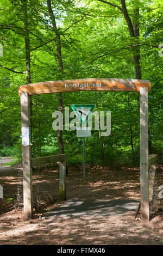
<instances>
[{"instance_id":1,"label":"bright green leafy trees filling the background behind the wooden arch","mask_svg":"<svg viewBox=\"0 0 163 256\"><path fill-rule=\"evenodd\" d=\"M22 84L81 78L133 78L152 83L149 154L162 155L163 41L161 0L1 0L0 154L21 159ZM139 163L139 93L71 92L34 95L32 156L65 153L82 163L82 139L54 131L58 106L95 104L111 112L111 134L86 139L90 164Z\"/></svg>"}]
</instances>

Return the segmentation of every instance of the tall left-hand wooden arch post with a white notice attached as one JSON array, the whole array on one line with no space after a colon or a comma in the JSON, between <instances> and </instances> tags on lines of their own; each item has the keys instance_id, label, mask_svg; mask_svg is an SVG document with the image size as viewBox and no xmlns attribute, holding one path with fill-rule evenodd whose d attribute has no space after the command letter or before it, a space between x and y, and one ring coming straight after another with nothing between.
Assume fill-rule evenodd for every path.
<instances>
[{"instance_id":1,"label":"tall left-hand wooden arch post with a white notice attached","mask_svg":"<svg viewBox=\"0 0 163 256\"><path fill-rule=\"evenodd\" d=\"M30 102L27 92L21 92L23 203L24 218L33 217L33 189L30 145Z\"/></svg>"}]
</instances>

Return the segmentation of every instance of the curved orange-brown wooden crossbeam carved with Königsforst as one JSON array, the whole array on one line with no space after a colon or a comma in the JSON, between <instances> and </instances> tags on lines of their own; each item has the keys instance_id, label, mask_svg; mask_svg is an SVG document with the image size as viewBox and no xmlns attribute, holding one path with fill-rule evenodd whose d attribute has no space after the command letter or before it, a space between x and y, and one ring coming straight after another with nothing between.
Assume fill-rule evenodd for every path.
<instances>
[{"instance_id":1,"label":"curved orange-brown wooden crossbeam carved with K\u00f6nigsforst","mask_svg":"<svg viewBox=\"0 0 163 256\"><path fill-rule=\"evenodd\" d=\"M127 91L140 92L140 87L151 90L151 82L135 79L87 78L59 80L24 84L18 88L18 94L28 92L29 95L43 93L79 92L79 91Z\"/></svg>"}]
</instances>

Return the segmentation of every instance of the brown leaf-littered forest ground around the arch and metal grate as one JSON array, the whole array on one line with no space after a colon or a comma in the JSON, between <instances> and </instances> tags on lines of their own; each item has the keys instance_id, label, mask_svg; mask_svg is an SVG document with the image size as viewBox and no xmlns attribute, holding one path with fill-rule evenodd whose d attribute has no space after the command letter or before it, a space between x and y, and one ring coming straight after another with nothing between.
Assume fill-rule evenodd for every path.
<instances>
[{"instance_id":1,"label":"brown leaf-littered forest ground around the arch and metal grate","mask_svg":"<svg viewBox=\"0 0 163 256\"><path fill-rule=\"evenodd\" d=\"M33 220L24 220L22 209L22 166L3 166L0 185L4 198L0 199L0 245L163 245L163 207L158 198L163 185L163 166L156 171L157 201L151 208L151 221L142 224L140 213L123 216L101 216L86 219L82 216L63 218L43 217L61 205L58 197L58 166L47 166L33 172L33 190L40 209ZM140 169L123 167L86 166L86 183L82 167L69 167L66 178L67 198L140 200ZM19 194L19 198L17 196ZM19 206L17 207L17 203Z\"/></svg>"}]
</instances>

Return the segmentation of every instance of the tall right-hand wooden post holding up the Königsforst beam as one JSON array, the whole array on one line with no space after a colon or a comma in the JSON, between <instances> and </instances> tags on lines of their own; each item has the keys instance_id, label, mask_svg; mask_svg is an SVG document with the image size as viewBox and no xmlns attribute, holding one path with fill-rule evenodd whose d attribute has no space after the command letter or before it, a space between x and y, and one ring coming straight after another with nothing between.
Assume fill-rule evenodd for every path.
<instances>
[{"instance_id":1,"label":"tall right-hand wooden post holding up the K\u00f6nigsforst beam","mask_svg":"<svg viewBox=\"0 0 163 256\"><path fill-rule=\"evenodd\" d=\"M140 204L141 221L149 222L148 88L140 88Z\"/></svg>"}]
</instances>

